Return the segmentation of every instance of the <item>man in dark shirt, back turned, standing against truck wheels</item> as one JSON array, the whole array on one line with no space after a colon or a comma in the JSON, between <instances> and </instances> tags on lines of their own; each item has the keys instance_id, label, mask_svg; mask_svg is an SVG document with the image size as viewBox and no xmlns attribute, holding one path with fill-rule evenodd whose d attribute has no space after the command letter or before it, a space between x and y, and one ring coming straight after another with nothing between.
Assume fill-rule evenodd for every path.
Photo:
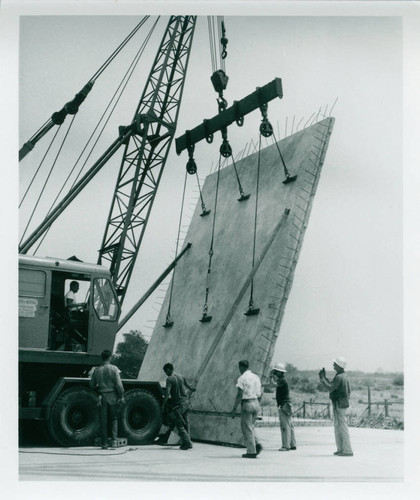
<instances>
[{"instance_id":1,"label":"man in dark shirt, back turned, standing against truck wheels","mask_svg":"<svg viewBox=\"0 0 420 500\"><path fill-rule=\"evenodd\" d=\"M117 444L118 436L118 404L124 402L124 387L120 378L120 371L111 365L111 351L102 353L102 365L97 366L89 381L91 389L100 394L101 409L101 438L102 449L108 448L108 418L111 421L112 446Z\"/></svg>"}]
</instances>

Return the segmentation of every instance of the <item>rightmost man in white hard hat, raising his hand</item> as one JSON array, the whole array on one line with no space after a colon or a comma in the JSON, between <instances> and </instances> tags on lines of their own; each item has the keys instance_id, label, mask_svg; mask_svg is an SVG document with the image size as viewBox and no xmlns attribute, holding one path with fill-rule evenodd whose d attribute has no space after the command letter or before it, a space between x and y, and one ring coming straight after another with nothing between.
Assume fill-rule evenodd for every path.
<instances>
[{"instance_id":1,"label":"rightmost man in white hard hat, raising his hand","mask_svg":"<svg viewBox=\"0 0 420 500\"><path fill-rule=\"evenodd\" d=\"M343 357L333 360L333 368L336 372L335 377L330 382L325 374L325 368L319 372L321 383L330 391L330 399L334 414L334 433L337 451L334 455L339 457L352 457L353 450L350 444L350 434L347 427L347 409L350 398L350 382L344 369L347 365Z\"/></svg>"}]
</instances>

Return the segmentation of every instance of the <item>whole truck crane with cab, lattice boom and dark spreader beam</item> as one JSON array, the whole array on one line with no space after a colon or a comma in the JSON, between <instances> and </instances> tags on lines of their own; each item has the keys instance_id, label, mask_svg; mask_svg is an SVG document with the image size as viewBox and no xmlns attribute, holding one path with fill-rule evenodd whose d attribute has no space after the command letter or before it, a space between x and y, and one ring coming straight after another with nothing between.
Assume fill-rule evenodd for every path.
<instances>
[{"instance_id":1,"label":"whole truck crane with cab, lattice boom and dark spreader beam","mask_svg":"<svg viewBox=\"0 0 420 500\"><path fill-rule=\"evenodd\" d=\"M19 271L19 414L22 419L44 422L50 437L64 446L90 443L97 432L96 396L86 377L100 363L100 353L112 349L119 329L121 306L176 132L196 20L196 16L169 18L131 123L119 128L114 142L19 247L23 254ZM226 48L227 40L222 38ZM222 82L221 90L226 83ZM220 91L219 116L209 121L211 133L220 130L226 143L226 128L233 119L241 122L244 114L281 97L279 80L268 89L268 93L265 87L254 93L251 104L245 98L232 110L226 109ZM203 125L205 132L207 125ZM187 134L185 146L179 143L178 150L187 148L190 153L201 138L195 132ZM121 148L97 264L25 255ZM87 294L72 322L65 317L63 297L65 287L74 280L85 285ZM129 442L148 442L160 427L160 385L137 380L123 383L126 404L120 428Z\"/></svg>"}]
</instances>

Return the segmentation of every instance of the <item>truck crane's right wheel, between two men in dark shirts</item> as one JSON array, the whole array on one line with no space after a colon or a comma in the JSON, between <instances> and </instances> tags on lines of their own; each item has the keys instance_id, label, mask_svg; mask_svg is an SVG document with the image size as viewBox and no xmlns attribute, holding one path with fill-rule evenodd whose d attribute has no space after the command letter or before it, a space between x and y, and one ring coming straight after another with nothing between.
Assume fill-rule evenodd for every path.
<instances>
[{"instance_id":1,"label":"truck crane's right wheel, between two men in dark shirts","mask_svg":"<svg viewBox=\"0 0 420 500\"><path fill-rule=\"evenodd\" d=\"M153 442L162 425L162 412L155 396L142 389L131 389L124 399L119 415L119 435L126 437L128 444Z\"/></svg>"}]
</instances>

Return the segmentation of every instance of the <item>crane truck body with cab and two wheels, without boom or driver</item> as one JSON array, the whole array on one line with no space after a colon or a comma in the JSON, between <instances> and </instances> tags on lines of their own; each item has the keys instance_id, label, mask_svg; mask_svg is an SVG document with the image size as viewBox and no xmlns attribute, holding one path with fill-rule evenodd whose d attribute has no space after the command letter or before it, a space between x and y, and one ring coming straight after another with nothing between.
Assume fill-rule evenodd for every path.
<instances>
[{"instance_id":1,"label":"crane truck body with cab and two wheels, without boom or driver","mask_svg":"<svg viewBox=\"0 0 420 500\"><path fill-rule=\"evenodd\" d=\"M83 302L65 304L70 283ZM39 421L62 446L93 444L99 435L98 395L89 374L112 351L120 304L108 269L78 260L19 257L19 419ZM161 426L159 382L123 380L119 434L150 442Z\"/></svg>"}]
</instances>

